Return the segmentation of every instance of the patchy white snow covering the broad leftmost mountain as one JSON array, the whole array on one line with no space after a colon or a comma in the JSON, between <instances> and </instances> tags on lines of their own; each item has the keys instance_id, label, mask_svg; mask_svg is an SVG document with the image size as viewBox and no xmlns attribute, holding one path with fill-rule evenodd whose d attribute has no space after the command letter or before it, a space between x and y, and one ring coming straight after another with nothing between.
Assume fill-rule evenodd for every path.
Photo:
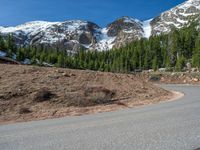
<instances>
[{"instance_id":1,"label":"patchy white snow covering the broad leftmost mountain","mask_svg":"<svg viewBox=\"0 0 200 150\"><path fill-rule=\"evenodd\" d=\"M25 43L29 44L31 37L42 37L40 43L53 44L66 38L66 35L78 32L79 27L87 25L86 21L70 20L66 22L47 22L33 21L27 22L16 27L0 27L2 34L14 33L15 35L24 35L28 39ZM64 32L59 32L59 29ZM78 33L81 34L81 33Z\"/></svg>"}]
</instances>

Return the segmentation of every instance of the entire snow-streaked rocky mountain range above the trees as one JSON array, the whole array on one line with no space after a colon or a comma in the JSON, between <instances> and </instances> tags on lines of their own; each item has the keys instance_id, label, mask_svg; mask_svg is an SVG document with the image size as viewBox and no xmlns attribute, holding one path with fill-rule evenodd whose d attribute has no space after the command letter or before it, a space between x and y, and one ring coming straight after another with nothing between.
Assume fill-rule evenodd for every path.
<instances>
[{"instance_id":1,"label":"entire snow-streaked rocky mountain range above the trees","mask_svg":"<svg viewBox=\"0 0 200 150\"><path fill-rule=\"evenodd\" d=\"M193 19L200 20L200 0L187 0L146 21L131 17L118 18L105 28L82 20L34 21L16 27L0 27L0 33L4 37L13 34L19 46L42 44L68 51L80 48L108 50L119 48L135 39L168 33L172 28L181 28Z\"/></svg>"}]
</instances>

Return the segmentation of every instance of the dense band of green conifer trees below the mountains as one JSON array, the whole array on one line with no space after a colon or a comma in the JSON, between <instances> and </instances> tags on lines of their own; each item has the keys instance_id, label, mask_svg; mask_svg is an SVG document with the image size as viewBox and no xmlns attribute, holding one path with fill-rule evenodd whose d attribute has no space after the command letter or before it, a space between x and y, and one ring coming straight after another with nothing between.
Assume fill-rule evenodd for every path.
<instances>
[{"instance_id":1,"label":"dense band of green conifer trees below the mountains","mask_svg":"<svg viewBox=\"0 0 200 150\"><path fill-rule=\"evenodd\" d=\"M200 28L192 22L168 34L133 41L124 47L109 51L83 50L69 53L65 50L39 46L16 46L14 38L0 36L0 50L8 56L16 55L18 61L30 59L31 64L43 62L57 67L90 69L108 72L132 72L137 69L181 71L186 63L200 67Z\"/></svg>"}]
</instances>

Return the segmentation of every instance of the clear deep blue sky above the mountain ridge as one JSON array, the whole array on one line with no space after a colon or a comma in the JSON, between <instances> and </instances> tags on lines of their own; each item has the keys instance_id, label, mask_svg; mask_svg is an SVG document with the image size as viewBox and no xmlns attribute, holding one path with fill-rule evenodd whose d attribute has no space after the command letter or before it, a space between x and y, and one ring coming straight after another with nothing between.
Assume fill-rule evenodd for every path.
<instances>
[{"instance_id":1,"label":"clear deep blue sky above the mountain ridge","mask_svg":"<svg viewBox=\"0 0 200 150\"><path fill-rule=\"evenodd\" d=\"M121 16L150 19L185 0L0 0L0 26L28 21L88 20L105 26Z\"/></svg>"}]
</instances>

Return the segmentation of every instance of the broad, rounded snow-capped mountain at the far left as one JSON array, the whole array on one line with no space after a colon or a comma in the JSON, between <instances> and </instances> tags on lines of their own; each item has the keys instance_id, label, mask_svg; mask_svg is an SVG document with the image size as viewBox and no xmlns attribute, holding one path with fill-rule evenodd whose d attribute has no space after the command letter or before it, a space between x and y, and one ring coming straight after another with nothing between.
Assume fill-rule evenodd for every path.
<instances>
[{"instance_id":1,"label":"broad, rounded snow-capped mountain at the far left","mask_svg":"<svg viewBox=\"0 0 200 150\"><path fill-rule=\"evenodd\" d=\"M100 30L98 25L81 20L34 21L16 27L0 28L4 36L12 33L18 45L43 44L67 50L93 47L96 43L94 34L99 34Z\"/></svg>"}]
</instances>

